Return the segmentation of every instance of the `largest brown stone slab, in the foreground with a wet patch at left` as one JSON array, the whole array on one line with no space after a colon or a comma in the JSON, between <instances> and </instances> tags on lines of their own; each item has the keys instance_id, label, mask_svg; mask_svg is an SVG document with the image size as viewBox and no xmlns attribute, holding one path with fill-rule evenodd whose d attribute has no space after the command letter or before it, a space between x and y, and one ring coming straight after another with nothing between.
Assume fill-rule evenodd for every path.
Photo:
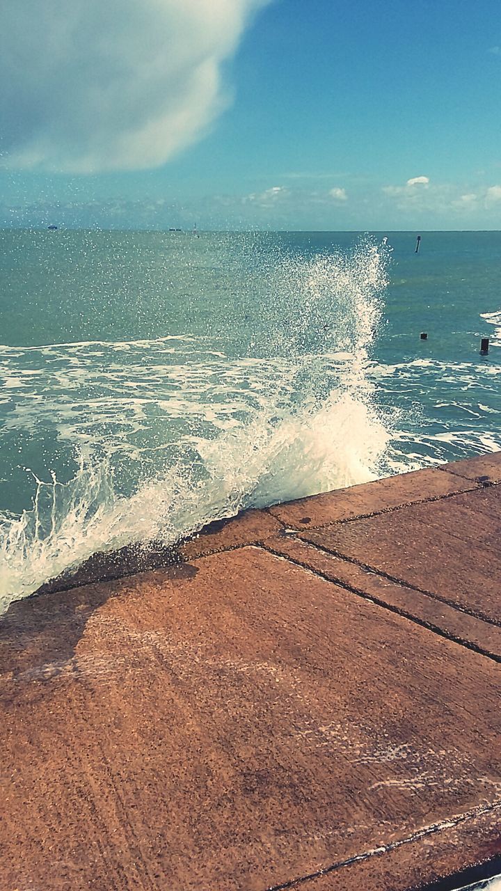
<instances>
[{"instance_id":1,"label":"largest brown stone slab, in the foreground with a wet patch at left","mask_svg":"<svg viewBox=\"0 0 501 891\"><path fill-rule=\"evenodd\" d=\"M264 891L500 795L499 666L289 560L50 596L3 622L5 888Z\"/></svg>"}]
</instances>

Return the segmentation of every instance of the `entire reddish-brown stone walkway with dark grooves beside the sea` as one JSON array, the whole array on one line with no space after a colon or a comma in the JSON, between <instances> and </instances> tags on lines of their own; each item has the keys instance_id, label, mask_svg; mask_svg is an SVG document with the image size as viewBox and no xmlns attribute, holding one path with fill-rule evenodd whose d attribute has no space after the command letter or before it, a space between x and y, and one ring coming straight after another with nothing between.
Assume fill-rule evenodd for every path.
<instances>
[{"instance_id":1,"label":"entire reddish-brown stone walkway with dark grooves beside the sea","mask_svg":"<svg viewBox=\"0 0 501 891\"><path fill-rule=\"evenodd\" d=\"M247 511L13 603L2 891L501 871L499 484L501 453Z\"/></svg>"}]
</instances>

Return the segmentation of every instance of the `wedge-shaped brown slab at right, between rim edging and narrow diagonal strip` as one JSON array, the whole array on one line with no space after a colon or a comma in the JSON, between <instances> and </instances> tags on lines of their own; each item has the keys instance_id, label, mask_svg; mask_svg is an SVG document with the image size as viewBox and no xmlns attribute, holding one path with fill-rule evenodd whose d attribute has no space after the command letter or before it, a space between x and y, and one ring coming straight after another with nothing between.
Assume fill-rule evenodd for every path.
<instances>
[{"instance_id":1,"label":"wedge-shaped brown slab at right, between rim edging and narrow diagonal strip","mask_svg":"<svg viewBox=\"0 0 501 891\"><path fill-rule=\"evenodd\" d=\"M500 499L493 486L301 537L499 623Z\"/></svg>"}]
</instances>

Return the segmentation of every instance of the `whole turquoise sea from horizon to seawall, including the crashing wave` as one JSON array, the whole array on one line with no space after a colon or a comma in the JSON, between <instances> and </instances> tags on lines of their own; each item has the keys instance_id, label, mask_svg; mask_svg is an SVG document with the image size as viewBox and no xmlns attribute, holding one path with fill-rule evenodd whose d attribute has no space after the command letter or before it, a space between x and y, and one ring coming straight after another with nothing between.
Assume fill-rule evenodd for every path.
<instances>
[{"instance_id":1,"label":"whole turquoise sea from horizon to seawall, including the crashing wave","mask_svg":"<svg viewBox=\"0 0 501 891\"><path fill-rule=\"evenodd\" d=\"M95 551L501 448L501 233L422 234L0 232L2 607Z\"/></svg>"}]
</instances>

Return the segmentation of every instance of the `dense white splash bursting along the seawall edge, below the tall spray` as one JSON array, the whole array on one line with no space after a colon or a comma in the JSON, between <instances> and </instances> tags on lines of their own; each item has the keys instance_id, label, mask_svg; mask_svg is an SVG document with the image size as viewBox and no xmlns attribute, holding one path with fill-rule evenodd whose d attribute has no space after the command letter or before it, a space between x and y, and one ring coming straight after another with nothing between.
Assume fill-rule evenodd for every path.
<instances>
[{"instance_id":1,"label":"dense white splash bursting along the seawall edge, below the tall spray","mask_svg":"<svg viewBox=\"0 0 501 891\"><path fill-rule=\"evenodd\" d=\"M70 483L37 480L32 511L0 519L0 609L97 551L174 544L213 519L374 478L388 434L370 407L332 394L318 411L262 413L201 439L200 467L178 462L120 497L108 462L82 458Z\"/></svg>"}]
</instances>

